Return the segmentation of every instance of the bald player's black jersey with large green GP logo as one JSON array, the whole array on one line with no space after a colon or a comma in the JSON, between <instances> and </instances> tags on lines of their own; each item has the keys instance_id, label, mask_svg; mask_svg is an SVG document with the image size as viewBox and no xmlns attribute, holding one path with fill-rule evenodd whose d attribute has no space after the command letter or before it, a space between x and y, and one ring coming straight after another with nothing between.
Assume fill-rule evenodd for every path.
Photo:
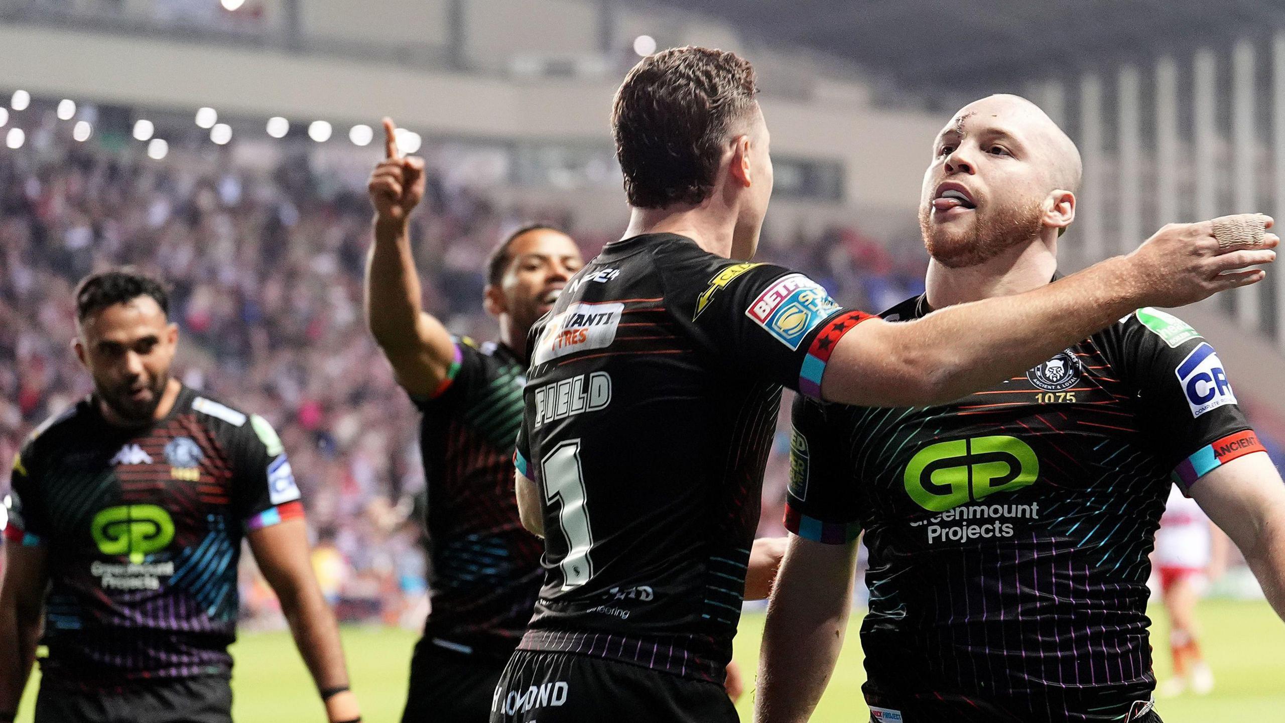
<instances>
[{"instance_id":1,"label":"bald player's black jersey with large green GP logo","mask_svg":"<svg viewBox=\"0 0 1285 723\"><path fill-rule=\"evenodd\" d=\"M924 313L916 297L884 316ZM1171 480L1258 450L1213 347L1141 309L944 407L799 399L786 526L865 530L873 705L1123 720L1155 683L1148 554Z\"/></svg>"}]
</instances>

